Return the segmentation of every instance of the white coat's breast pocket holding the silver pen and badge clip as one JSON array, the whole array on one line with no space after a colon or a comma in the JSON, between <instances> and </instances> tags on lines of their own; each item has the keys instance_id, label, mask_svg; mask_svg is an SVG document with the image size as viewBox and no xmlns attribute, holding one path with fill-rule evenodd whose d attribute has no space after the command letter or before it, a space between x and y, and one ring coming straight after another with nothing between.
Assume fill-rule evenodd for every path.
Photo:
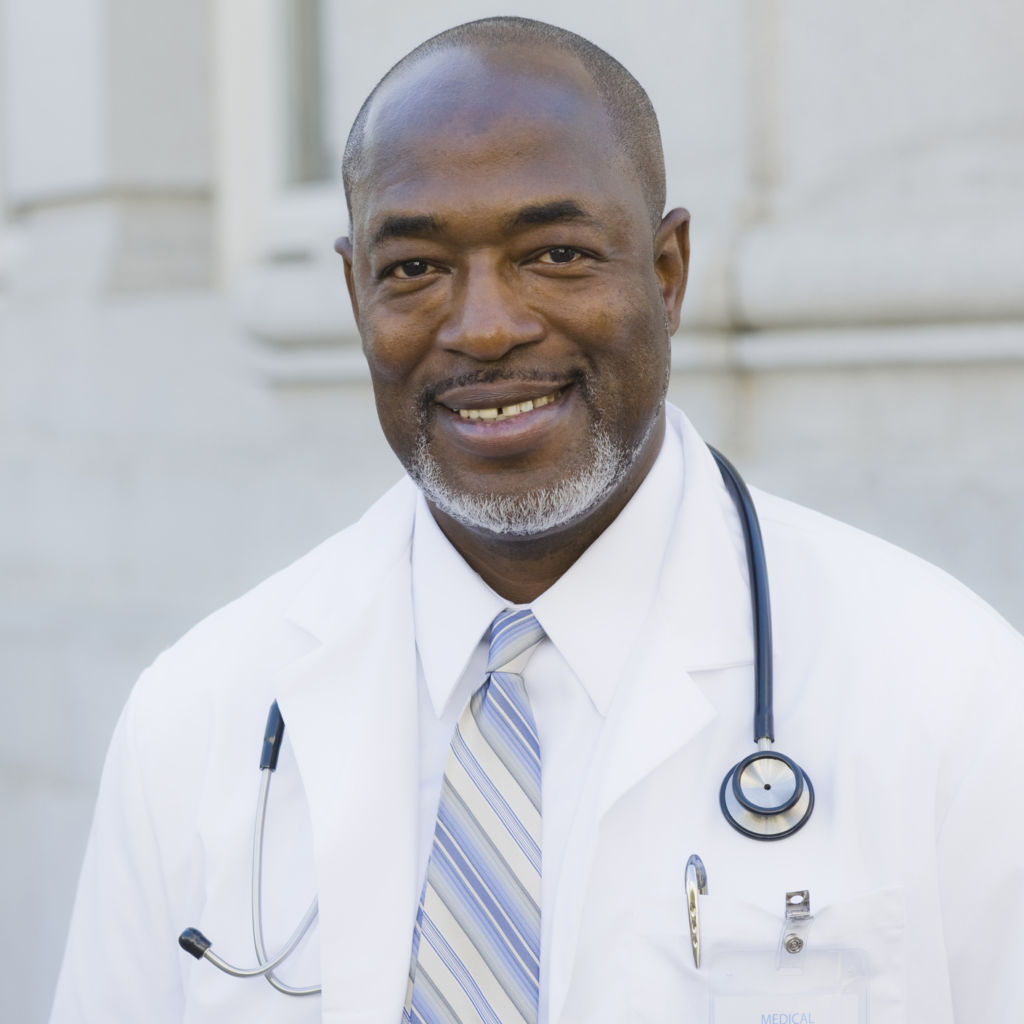
<instances>
[{"instance_id":1,"label":"white coat's breast pocket holding the silver pen and badge clip","mask_svg":"<svg viewBox=\"0 0 1024 1024\"><path fill-rule=\"evenodd\" d=\"M783 897L778 894L778 912L721 895L699 897L699 968L685 904L638 913L627 957L628 1019L906 1024L903 891L880 889L812 905L792 953Z\"/></svg>"}]
</instances>

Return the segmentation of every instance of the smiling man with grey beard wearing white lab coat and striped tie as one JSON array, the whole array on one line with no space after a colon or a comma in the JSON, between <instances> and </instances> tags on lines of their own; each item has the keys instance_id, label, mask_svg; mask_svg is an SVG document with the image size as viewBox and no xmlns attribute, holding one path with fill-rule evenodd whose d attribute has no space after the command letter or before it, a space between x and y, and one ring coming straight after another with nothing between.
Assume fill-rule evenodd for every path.
<instances>
[{"instance_id":1,"label":"smiling man with grey beard wearing white lab coat and striped tie","mask_svg":"<svg viewBox=\"0 0 1024 1024\"><path fill-rule=\"evenodd\" d=\"M779 731L816 802L773 843L721 813L751 595L723 477L665 404L689 254L664 181L640 87L538 23L442 34L371 95L338 249L416 486L140 680L54 1021L1024 1019L1024 644L938 570L757 495ZM507 623L528 644L488 665ZM318 895L273 971L307 998L175 946L195 925L253 963L273 700L256 945Z\"/></svg>"}]
</instances>

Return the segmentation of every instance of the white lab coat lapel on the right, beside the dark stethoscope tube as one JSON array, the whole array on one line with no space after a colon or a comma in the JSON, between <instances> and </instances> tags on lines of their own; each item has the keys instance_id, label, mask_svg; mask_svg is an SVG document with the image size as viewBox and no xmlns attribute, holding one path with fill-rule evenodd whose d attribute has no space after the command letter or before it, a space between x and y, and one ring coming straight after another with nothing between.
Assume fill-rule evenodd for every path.
<instances>
[{"instance_id":1,"label":"white lab coat lapel on the right, beside the dark stethoscope tube","mask_svg":"<svg viewBox=\"0 0 1024 1024\"><path fill-rule=\"evenodd\" d=\"M558 1021L572 981L590 868L602 818L615 802L686 746L716 712L691 673L753 660L742 532L718 467L681 415L685 489L648 623L608 711L595 770L580 801L558 880L549 979Z\"/></svg>"}]
</instances>

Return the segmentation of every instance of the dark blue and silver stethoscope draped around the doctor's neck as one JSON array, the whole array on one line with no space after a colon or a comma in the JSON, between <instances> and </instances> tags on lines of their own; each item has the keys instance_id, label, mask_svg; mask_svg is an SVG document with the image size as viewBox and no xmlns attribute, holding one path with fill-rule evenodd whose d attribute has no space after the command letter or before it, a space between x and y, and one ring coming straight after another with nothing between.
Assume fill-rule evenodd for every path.
<instances>
[{"instance_id":1,"label":"dark blue and silver stethoscope draped around the doctor's neck","mask_svg":"<svg viewBox=\"0 0 1024 1024\"><path fill-rule=\"evenodd\" d=\"M711 453L736 506L746 545L755 640L754 741L758 745L757 751L733 765L726 773L719 792L719 803L725 820L743 836L757 840L784 839L807 823L814 809L814 787L807 773L796 761L772 750L775 729L772 715L771 603L761 526L750 492L739 473L721 453L715 449ZM295 952L312 928L318 912L316 899L309 904L291 937L273 956L267 956L263 941L263 830L270 779L278 767L284 736L285 721L275 700L270 706L263 732L256 824L253 829L252 925L257 966L239 968L228 964L213 951L210 940L197 928L186 928L178 937L178 944L197 959L208 959L214 967L234 978L262 976L285 995L314 995L321 991L319 985L287 985L278 978L274 971Z\"/></svg>"}]
</instances>

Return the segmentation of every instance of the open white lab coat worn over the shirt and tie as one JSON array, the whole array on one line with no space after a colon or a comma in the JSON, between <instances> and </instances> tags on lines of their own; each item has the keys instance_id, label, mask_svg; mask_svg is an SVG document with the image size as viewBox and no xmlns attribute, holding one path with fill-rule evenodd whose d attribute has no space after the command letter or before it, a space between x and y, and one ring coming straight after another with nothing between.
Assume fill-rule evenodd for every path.
<instances>
[{"instance_id":1,"label":"open white lab coat worn over the shirt and tie","mask_svg":"<svg viewBox=\"0 0 1024 1024\"><path fill-rule=\"evenodd\" d=\"M777 748L813 780L809 824L733 831L751 753L753 640L738 521L675 411L686 489L659 593L580 795L546 984L558 1024L702 1021L730 943L774 950L808 889L812 942L860 949L871 1024L1024 1020L1017 733L1024 643L939 570L755 493L775 627ZM139 681L114 737L54 1024L397 1024L422 880L408 480L353 527L202 623ZM609 581L609 586L613 581ZM443 582L439 582L443 599ZM287 723L270 796L267 945L314 892L289 998L177 948L195 925L251 965L261 730ZM683 866L708 868L695 970Z\"/></svg>"}]
</instances>

